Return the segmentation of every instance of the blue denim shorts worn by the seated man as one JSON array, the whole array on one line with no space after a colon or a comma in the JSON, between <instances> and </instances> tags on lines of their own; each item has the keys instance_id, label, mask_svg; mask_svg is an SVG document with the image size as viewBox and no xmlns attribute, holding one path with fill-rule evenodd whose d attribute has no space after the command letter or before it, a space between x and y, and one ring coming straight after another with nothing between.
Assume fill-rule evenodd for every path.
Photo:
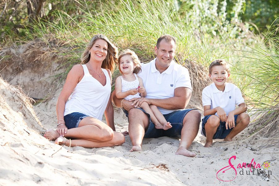
<instances>
[{"instance_id":1,"label":"blue denim shorts worn by the seated man","mask_svg":"<svg viewBox=\"0 0 279 186\"><path fill-rule=\"evenodd\" d=\"M123 108L122 108L123 109ZM172 127L168 130L156 129L154 123L150 119L150 115L146 113L142 108L137 108L143 111L149 117L149 126L145 131L144 138L158 138L162 136L167 136L171 138L181 138L181 130L183 127L183 119L186 114L191 110L197 110L196 108L191 109L182 109L178 111L174 111L169 114L163 114L167 122L170 122ZM128 117L128 111L123 109L126 117ZM129 121L129 117L128 117Z\"/></svg>"}]
</instances>

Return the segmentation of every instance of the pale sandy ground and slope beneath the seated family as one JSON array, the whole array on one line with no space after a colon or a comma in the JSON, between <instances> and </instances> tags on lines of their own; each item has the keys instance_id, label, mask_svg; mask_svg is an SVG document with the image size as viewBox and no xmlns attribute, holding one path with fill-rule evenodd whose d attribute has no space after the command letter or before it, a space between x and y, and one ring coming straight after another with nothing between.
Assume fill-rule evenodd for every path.
<instances>
[{"instance_id":1,"label":"pale sandy ground and slope beneath the seated family","mask_svg":"<svg viewBox=\"0 0 279 186\"><path fill-rule=\"evenodd\" d=\"M131 140L126 136L122 146L86 149L61 147L43 138L44 128L55 126L55 102L60 90L48 103L33 110L19 89L0 79L0 185L278 185L278 148L263 144L259 136L237 136L232 143L215 142L204 148L205 138L200 134L191 150L197 157L175 155L179 140L167 137L144 139L143 152L129 152ZM116 111L117 131L127 130L127 119ZM268 147L270 146L270 147ZM219 181L216 173L232 163L262 164L270 161L272 175L246 175L237 169L238 178ZM263 168L263 167L262 167ZM264 169L266 170L266 169ZM250 173L252 174L252 173ZM235 175L232 169L219 175L226 179ZM223 178L224 176L224 178Z\"/></svg>"}]
</instances>

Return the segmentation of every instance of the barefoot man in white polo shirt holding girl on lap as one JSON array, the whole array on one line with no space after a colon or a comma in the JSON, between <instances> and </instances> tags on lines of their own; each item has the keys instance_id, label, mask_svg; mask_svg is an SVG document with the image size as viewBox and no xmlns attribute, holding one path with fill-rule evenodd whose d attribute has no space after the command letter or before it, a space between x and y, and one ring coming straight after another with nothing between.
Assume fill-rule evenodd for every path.
<instances>
[{"instance_id":1,"label":"barefoot man in white polo shirt holding girl on lap","mask_svg":"<svg viewBox=\"0 0 279 186\"><path fill-rule=\"evenodd\" d=\"M114 104L124 108L129 119L131 152L142 150L143 138L168 136L181 138L175 154L196 156L187 149L197 136L201 113L196 109L184 109L190 100L192 86L188 70L173 60L175 47L174 37L161 36L155 47L157 58L142 65L139 77L143 79L147 91L145 98L117 99L113 92ZM150 116L143 109L136 108L144 101L156 105L172 127L168 130L156 129Z\"/></svg>"}]
</instances>

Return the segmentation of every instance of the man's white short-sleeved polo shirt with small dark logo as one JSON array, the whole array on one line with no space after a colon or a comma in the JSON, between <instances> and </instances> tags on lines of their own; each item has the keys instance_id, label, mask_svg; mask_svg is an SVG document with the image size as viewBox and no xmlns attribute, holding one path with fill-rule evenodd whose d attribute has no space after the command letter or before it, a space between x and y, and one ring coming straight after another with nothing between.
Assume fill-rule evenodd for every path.
<instances>
[{"instance_id":1,"label":"man's white short-sleeved polo shirt with small dark logo","mask_svg":"<svg viewBox=\"0 0 279 186\"><path fill-rule=\"evenodd\" d=\"M147 92L146 98L150 99L166 99L174 97L174 91L177 87L187 87L192 90L191 80L188 69L174 60L170 62L170 66L162 73L155 67L156 58L149 63L141 65L141 73L144 87ZM175 110L167 110L158 107L162 114L168 114Z\"/></svg>"}]
</instances>

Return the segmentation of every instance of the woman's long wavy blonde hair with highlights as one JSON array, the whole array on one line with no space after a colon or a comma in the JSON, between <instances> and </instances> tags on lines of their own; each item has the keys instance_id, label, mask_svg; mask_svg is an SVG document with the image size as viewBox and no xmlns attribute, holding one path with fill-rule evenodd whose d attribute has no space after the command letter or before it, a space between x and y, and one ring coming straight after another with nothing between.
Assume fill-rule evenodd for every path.
<instances>
[{"instance_id":1,"label":"woman's long wavy blonde hair with highlights","mask_svg":"<svg viewBox=\"0 0 279 186\"><path fill-rule=\"evenodd\" d=\"M81 59L81 64L86 64L88 63L88 61L90 60L90 53L89 50L93 47L93 45L95 44L95 42L98 39L103 39L104 41L106 41L108 43L108 54L106 56L106 58L104 59L103 63L102 63L102 67L103 69L109 69L112 73L115 69L115 65L117 64L117 54L118 54L118 50L117 47L115 47L114 44L112 44L107 37L105 37L102 34L97 34L95 35L91 41L89 42L89 44L86 46L85 51L82 53L82 59Z\"/></svg>"}]
</instances>

